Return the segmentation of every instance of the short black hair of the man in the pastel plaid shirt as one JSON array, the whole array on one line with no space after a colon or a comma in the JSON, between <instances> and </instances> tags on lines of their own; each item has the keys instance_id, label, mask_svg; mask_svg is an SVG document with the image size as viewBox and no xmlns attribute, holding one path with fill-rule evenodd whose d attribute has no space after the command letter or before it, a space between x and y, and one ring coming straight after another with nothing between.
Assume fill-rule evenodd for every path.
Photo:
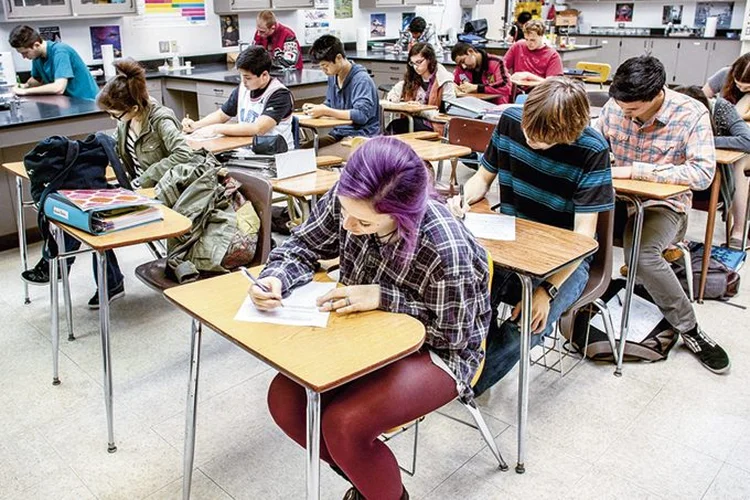
<instances>
[{"instance_id":1,"label":"short black hair of the man in the pastel plaid shirt","mask_svg":"<svg viewBox=\"0 0 750 500\"><path fill-rule=\"evenodd\" d=\"M667 83L667 73L653 56L631 57L617 68L609 96L621 102L651 101Z\"/></svg>"}]
</instances>

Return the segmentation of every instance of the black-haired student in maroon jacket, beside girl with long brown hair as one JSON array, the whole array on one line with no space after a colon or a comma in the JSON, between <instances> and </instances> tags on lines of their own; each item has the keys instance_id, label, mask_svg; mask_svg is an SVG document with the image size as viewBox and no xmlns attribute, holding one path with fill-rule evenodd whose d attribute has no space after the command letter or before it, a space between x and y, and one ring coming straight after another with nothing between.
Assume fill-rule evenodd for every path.
<instances>
[{"instance_id":1,"label":"black-haired student in maroon jacket, beside girl with long brown hair","mask_svg":"<svg viewBox=\"0 0 750 500\"><path fill-rule=\"evenodd\" d=\"M492 100L495 104L506 104L510 100L510 75L501 57L459 42L453 46L451 59L456 63L453 82L461 92L497 94Z\"/></svg>"}]
</instances>

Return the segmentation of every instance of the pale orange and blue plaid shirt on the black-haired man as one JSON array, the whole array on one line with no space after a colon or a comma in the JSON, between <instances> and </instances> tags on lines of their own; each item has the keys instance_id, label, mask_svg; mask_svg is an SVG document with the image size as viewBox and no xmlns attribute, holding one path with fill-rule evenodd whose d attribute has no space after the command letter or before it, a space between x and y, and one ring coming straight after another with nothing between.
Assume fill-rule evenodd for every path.
<instances>
[{"instance_id":1,"label":"pale orange and blue plaid shirt on the black-haired man","mask_svg":"<svg viewBox=\"0 0 750 500\"><path fill-rule=\"evenodd\" d=\"M708 110L685 95L664 89L664 103L647 123L627 118L614 99L602 108L597 127L609 141L615 166L632 165L633 179L708 189L716 171L716 150ZM668 205L687 212L692 193L644 206Z\"/></svg>"}]
</instances>

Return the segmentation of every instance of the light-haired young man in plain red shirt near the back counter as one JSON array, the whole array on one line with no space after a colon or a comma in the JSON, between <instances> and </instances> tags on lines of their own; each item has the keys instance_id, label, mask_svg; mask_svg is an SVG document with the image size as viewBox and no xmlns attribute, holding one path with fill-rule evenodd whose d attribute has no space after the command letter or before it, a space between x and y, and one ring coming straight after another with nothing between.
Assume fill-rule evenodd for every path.
<instances>
[{"instance_id":1,"label":"light-haired young man in plain red shirt near the back counter","mask_svg":"<svg viewBox=\"0 0 750 500\"><path fill-rule=\"evenodd\" d=\"M550 76L562 76L562 59L553 47L544 44L544 31L544 23L529 21L523 27L524 39L514 43L505 54L505 67L514 82L533 85Z\"/></svg>"}]
</instances>

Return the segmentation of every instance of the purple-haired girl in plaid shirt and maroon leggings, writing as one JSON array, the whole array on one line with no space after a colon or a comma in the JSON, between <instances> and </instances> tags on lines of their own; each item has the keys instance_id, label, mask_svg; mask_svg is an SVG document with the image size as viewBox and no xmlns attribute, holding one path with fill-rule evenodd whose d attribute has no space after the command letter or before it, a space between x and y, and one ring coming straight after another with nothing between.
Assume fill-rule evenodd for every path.
<instances>
[{"instance_id":1,"label":"purple-haired girl in plaid shirt and maroon leggings, writing","mask_svg":"<svg viewBox=\"0 0 750 500\"><path fill-rule=\"evenodd\" d=\"M344 286L318 299L321 310L380 309L425 325L420 351L321 396L320 457L352 483L345 499L408 499L396 458L378 436L473 397L491 316L487 254L433 194L411 147L370 139L307 222L271 252L259 279L270 292L248 292L259 309L274 309L312 279L318 260L339 257ZM301 446L306 401L305 388L284 375L271 382L271 415Z\"/></svg>"}]
</instances>

